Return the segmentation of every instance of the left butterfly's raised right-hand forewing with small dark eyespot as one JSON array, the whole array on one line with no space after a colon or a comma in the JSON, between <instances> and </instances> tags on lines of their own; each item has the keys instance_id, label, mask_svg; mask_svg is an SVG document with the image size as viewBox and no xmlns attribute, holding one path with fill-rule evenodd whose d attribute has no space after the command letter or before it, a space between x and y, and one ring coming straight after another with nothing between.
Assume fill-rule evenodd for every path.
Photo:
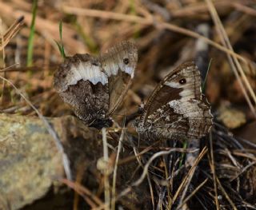
<instances>
[{"instance_id":1,"label":"left butterfly's raised right-hand forewing with small dark eyespot","mask_svg":"<svg viewBox=\"0 0 256 210\"><path fill-rule=\"evenodd\" d=\"M100 60L108 76L110 91L108 114L111 114L117 109L130 87L138 61L138 50L131 42L121 42L103 54Z\"/></svg>"}]
</instances>

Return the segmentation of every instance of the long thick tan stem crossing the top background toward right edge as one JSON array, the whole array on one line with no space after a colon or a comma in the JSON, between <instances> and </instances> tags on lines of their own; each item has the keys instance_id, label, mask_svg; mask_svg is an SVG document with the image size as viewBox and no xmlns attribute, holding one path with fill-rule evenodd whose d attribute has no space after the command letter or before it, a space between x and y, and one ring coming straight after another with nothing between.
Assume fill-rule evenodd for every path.
<instances>
[{"instance_id":1,"label":"long thick tan stem crossing the top background toward right edge","mask_svg":"<svg viewBox=\"0 0 256 210\"><path fill-rule=\"evenodd\" d=\"M197 38L197 39L201 38L204 42L207 42L210 46L214 46L218 50L228 53L234 57L237 57L239 60L243 61L246 65L250 63L250 61L246 60L245 57L242 57L237 53L234 53L234 51L232 50L226 49L226 47L219 45L217 42L213 42L209 38L205 38L204 36L201 36L200 34L195 33L192 30L186 30L182 27L175 26L167 22L157 22L157 20L154 19L154 16L151 16L150 18L143 18L137 15L118 14L118 13L102 11L102 10L81 9L81 8L76 8L71 6L62 6L62 10L66 13L89 16L94 18L106 18L106 19L114 19L114 20L126 21L126 22L137 22L143 25L155 26L158 29L172 30L176 33L184 34L192 38Z\"/></svg>"}]
</instances>

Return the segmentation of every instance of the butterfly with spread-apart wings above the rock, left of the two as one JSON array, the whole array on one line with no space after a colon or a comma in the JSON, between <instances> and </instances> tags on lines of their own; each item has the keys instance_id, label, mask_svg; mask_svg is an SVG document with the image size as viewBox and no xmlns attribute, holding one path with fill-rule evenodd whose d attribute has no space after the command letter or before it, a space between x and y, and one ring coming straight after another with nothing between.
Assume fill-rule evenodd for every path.
<instances>
[{"instance_id":1,"label":"butterfly with spread-apart wings above the rock, left of the two","mask_svg":"<svg viewBox=\"0 0 256 210\"><path fill-rule=\"evenodd\" d=\"M125 97L134 77L138 50L121 42L98 57L75 54L54 73L54 88L87 125L110 126L110 117Z\"/></svg>"}]
</instances>

